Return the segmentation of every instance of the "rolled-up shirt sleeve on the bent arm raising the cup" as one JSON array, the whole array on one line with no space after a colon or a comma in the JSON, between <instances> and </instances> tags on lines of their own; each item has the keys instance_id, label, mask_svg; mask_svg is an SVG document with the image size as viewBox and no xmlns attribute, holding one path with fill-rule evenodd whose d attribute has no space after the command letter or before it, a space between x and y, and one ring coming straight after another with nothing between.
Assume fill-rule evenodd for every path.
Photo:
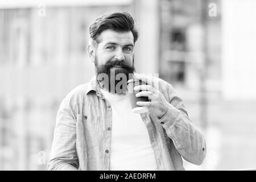
<instances>
[{"instance_id":1,"label":"rolled-up shirt sleeve on the bent arm raising the cup","mask_svg":"<svg viewBox=\"0 0 256 182\"><path fill-rule=\"evenodd\" d=\"M174 142L180 155L193 164L203 163L206 155L204 135L189 119L187 110L172 86L168 85L168 110L159 122Z\"/></svg>"}]
</instances>

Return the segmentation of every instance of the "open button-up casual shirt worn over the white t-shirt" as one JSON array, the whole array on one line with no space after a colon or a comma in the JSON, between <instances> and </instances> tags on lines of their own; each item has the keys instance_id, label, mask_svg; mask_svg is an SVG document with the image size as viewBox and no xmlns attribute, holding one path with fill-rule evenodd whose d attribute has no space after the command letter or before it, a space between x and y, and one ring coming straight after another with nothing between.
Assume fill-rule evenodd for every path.
<instances>
[{"instance_id":1,"label":"open button-up casual shirt worn over the white t-shirt","mask_svg":"<svg viewBox=\"0 0 256 182\"><path fill-rule=\"evenodd\" d=\"M134 75L139 79L154 80L151 85L169 102L162 118L150 107L147 113L140 114L148 130L158 169L184 170L183 159L197 165L203 163L206 155L204 135L189 119L183 101L172 85L160 78ZM61 102L48 168L109 170L111 138L112 107L94 76L89 83L73 89Z\"/></svg>"}]
</instances>

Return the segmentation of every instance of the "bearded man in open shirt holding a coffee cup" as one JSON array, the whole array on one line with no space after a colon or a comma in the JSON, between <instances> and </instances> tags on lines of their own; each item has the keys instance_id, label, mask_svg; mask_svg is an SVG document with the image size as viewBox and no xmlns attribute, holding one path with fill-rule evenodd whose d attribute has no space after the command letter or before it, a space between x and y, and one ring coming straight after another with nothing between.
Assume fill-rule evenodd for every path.
<instances>
[{"instance_id":1,"label":"bearded man in open shirt holding a coffee cup","mask_svg":"<svg viewBox=\"0 0 256 182\"><path fill-rule=\"evenodd\" d=\"M138 31L131 15L102 15L89 32L88 54L96 75L61 102L49 169L184 170L183 159L203 163L204 135L171 84L153 78L157 86L150 82L135 86L137 97L148 97L147 102L137 102L148 108L140 114L133 113L125 85L117 86L118 73L124 75L122 81L147 78L135 73Z\"/></svg>"}]
</instances>

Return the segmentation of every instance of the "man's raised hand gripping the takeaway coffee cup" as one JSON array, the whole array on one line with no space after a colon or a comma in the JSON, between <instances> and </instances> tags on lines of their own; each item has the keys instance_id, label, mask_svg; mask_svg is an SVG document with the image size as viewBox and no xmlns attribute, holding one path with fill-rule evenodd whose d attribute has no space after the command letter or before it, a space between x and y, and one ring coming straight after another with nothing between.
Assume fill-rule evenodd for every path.
<instances>
[{"instance_id":1,"label":"man's raised hand gripping the takeaway coffee cup","mask_svg":"<svg viewBox=\"0 0 256 182\"><path fill-rule=\"evenodd\" d=\"M168 102L164 98L163 94L156 90L151 85L138 85L134 87L135 91L141 90L141 92L136 94L136 97L148 97L149 102L138 101L138 106L147 106L151 109L156 110L159 118L162 118L168 110Z\"/></svg>"}]
</instances>

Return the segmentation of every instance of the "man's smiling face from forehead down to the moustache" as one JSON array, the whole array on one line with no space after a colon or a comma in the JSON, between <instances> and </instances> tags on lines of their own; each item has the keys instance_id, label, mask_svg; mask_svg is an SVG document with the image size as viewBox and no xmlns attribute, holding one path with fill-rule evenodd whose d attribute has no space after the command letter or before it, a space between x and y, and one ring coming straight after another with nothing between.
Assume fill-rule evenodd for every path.
<instances>
[{"instance_id":1,"label":"man's smiling face from forehead down to the moustache","mask_svg":"<svg viewBox=\"0 0 256 182\"><path fill-rule=\"evenodd\" d=\"M97 75L110 72L124 73L129 79L129 73L134 72L134 38L131 31L116 32L105 30L99 36L100 42L94 47L94 64ZM115 85L118 81L115 81ZM109 85L110 86L110 85Z\"/></svg>"}]
</instances>

